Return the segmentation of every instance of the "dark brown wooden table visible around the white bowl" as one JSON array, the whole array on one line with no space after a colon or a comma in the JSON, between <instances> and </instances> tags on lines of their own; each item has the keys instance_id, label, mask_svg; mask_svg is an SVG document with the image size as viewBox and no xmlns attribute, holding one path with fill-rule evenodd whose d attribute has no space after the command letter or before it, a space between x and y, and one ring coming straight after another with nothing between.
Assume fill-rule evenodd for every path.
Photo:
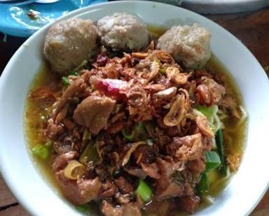
<instances>
[{"instance_id":1,"label":"dark brown wooden table visible around the white bowl","mask_svg":"<svg viewBox=\"0 0 269 216\"><path fill-rule=\"evenodd\" d=\"M214 22L219 23L244 43L251 50L263 67L269 66L269 8L250 13L237 13L231 15L207 15ZM25 38L8 36L6 42L4 35L0 34L0 74L8 60L22 45ZM269 70L267 71L269 75ZM20 206L0 175L0 215L19 216L29 215ZM251 216L269 215L269 191L263 196Z\"/></svg>"}]
</instances>

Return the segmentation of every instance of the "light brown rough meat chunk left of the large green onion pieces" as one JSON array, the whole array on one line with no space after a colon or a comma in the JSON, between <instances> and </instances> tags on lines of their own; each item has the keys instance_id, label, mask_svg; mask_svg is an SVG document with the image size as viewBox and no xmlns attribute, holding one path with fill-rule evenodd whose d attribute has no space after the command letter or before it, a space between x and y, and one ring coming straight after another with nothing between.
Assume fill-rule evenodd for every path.
<instances>
[{"instance_id":1,"label":"light brown rough meat chunk left of the large green onion pieces","mask_svg":"<svg viewBox=\"0 0 269 216\"><path fill-rule=\"evenodd\" d=\"M201 134L191 136L174 137L172 143L166 147L167 154L170 154L181 161L198 159L202 154Z\"/></svg>"}]
</instances>

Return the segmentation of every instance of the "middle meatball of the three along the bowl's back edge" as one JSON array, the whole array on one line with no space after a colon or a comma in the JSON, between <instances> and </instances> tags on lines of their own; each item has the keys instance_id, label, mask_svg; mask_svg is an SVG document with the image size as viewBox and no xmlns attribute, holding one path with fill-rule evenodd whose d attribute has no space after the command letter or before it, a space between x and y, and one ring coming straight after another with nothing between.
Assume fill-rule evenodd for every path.
<instances>
[{"instance_id":1,"label":"middle meatball of the three along the bowl's back edge","mask_svg":"<svg viewBox=\"0 0 269 216\"><path fill-rule=\"evenodd\" d=\"M127 13L103 17L97 22L97 31L102 44L113 50L141 50L150 38L146 24Z\"/></svg>"}]
</instances>

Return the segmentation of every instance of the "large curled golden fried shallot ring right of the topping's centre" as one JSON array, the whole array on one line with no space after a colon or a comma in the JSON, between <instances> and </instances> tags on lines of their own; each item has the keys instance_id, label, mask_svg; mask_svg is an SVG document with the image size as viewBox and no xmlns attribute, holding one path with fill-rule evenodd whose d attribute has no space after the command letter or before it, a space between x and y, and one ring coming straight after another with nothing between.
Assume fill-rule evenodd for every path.
<instances>
[{"instance_id":1,"label":"large curled golden fried shallot ring right of the topping's centre","mask_svg":"<svg viewBox=\"0 0 269 216\"><path fill-rule=\"evenodd\" d=\"M178 94L175 97L169 113L163 119L164 124L168 127L174 127L180 124L186 118L186 114L191 108L188 92L185 89L179 89L179 92L182 94Z\"/></svg>"}]
</instances>

